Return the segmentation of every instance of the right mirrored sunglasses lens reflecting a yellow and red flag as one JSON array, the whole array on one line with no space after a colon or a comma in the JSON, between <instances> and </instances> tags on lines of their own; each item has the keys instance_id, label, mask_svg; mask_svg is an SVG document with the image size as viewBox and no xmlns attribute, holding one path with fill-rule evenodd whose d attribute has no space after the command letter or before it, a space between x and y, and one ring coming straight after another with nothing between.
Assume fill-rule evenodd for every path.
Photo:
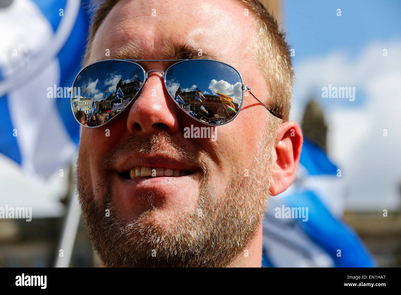
<instances>
[{"instance_id":1,"label":"right mirrored sunglasses lens reflecting a yellow and red flag","mask_svg":"<svg viewBox=\"0 0 401 295\"><path fill-rule=\"evenodd\" d=\"M166 72L168 92L188 114L201 122L229 122L241 107L241 76L230 65L211 60L177 63Z\"/></svg>"}]
</instances>

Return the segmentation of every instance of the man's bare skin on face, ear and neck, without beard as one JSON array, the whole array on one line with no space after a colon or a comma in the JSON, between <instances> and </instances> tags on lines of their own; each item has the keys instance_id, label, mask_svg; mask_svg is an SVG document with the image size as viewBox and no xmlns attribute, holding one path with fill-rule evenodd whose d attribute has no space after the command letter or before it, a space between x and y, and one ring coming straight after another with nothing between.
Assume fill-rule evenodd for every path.
<instances>
[{"instance_id":1,"label":"man's bare skin on face, ear and neck, without beard","mask_svg":"<svg viewBox=\"0 0 401 295\"><path fill-rule=\"evenodd\" d=\"M156 16L150 16L152 9ZM199 17L202 16L202 17ZM180 21L171 21L179 18ZM216 20L219 21L216 29ZM110 32L113 32L112 34ZM238 36L241 36L238 38ZM89 61L105 59L105 49L111 53L130 41L144 44L146 54L141 59L160 59L162 41L184 45L212 53L218 60L235 67L242 75L244 84L251 87L253 94L269 104L269 85L257 70L251 51L247 48L255 36L251 15L244 16L244 7L233 0L190 0L190 1L120 1L101 24L91 49ZM232 42L235 40L235 42ZM229 46L227 46L229 45ZM216 50L218 49L218 51ZM146 63L145 70L165 71L168 65ZM211 159L211 182L217 192L227 186L227 179L233 173L243 173L249 168L257 152L262 128L268 116L272 116L252 96L245 101L238 116L218 127L216 142L204 138L182 138L188 145L197 146L209 154ZM138 130L136 126L141 126ZM141 95L117 118L105 126L95 129L82 128L79 147L79 165L86 167L85 184L95 192L95 183L102 181L97 171L103 157L130 134L153 134L163 130L172 136L181 136L184 126L202 127L175 105L164 89L162 73L149 73ZM110 136L106 137L106 129ZM237 140L240 138L240 140ZM277 195L287 189L295 178L300 151L302 132L295 122L284 122L275 130L274 146L271 148L272 163L261 174L271 171L270 195ZM96 144L93 144L96 142ZM230 163L230 165L225 165ZM117 178L109 179L114 187L113 202L122 218L134 219L142 212L141 197L132 197L132 191L119 185ZM154 222L169 230L174 220L169 216L179 210L194 210L199 193L200 176L186 179L174 185L157 185L136 190L136 195L145 194L147 189L156 192L158 208ZM184 192L184 193L183 193ZM118 196L118 197L117 197ZM217 193L216 197L224 197ZM93 200L97 201L97 200ZM262 250L262 223L255 236L249 241L249 256L239 253L230 267L260 267Z\"/></svg>"}]
</instances>

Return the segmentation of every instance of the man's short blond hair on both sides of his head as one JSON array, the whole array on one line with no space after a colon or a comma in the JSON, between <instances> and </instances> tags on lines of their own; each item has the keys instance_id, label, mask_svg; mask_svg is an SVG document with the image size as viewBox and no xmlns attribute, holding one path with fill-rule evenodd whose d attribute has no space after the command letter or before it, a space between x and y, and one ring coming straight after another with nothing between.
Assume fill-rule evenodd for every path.
<instances>
[{"instance_id":1,"label":"man's short blond hair on both sides of his head","mask_svg":"<svg viewBox=\"0 0 401 295\"><path fill-rule=\"evenodd\" d=\"M279 30L277 20L259 0L235 0L241 2L254 16L256 39L251 45L253 58L258 69L270 86L271 106L284 121L288 120L291 108L293 69L290 50L285 41L285 33ZM89 55L99 26L119 0L92 0L91 26L83 63Z\"/></svg>"}]
</instances>

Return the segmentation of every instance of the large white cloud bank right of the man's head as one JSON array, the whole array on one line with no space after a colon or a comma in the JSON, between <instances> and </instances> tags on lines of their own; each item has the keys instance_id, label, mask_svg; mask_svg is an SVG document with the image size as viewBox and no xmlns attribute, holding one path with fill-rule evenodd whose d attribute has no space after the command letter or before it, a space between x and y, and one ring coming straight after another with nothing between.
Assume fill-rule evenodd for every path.
<instances>
[{"instance_id":1,"label":"large white cloud bank right of the man's head","mask_svg":"<svg viewBox=\"0 0 401 295\"><path fill-rule=\"evenodd\" d=\"M353 59L338 51L294 65L291 119L302 120L311 94L322 106L328 154L342 169L352 208L391 210L399 205L400 68L400 40L370 44ZM322 98L321 88L329 84L355 87L355 101Z\"/></svg>"}]
</instances>

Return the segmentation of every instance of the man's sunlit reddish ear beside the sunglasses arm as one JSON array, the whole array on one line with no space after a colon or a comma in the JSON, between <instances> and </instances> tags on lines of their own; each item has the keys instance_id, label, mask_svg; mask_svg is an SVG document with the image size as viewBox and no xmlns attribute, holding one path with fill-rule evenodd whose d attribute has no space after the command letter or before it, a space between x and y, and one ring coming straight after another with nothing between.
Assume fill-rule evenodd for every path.
<instances>
[{"instance_id":1,"label":"man's sunlit reddish ear beside the sunglasses arm","mask_svg":"<svg viewBox=\"0 0 401 295\"><path fill-rule=\"evenodd\" d=\"M270 195L278 195L294 181L302 149L302 131L296 122L279 125L273 146Z\"/></svg>"}]
</instances>

